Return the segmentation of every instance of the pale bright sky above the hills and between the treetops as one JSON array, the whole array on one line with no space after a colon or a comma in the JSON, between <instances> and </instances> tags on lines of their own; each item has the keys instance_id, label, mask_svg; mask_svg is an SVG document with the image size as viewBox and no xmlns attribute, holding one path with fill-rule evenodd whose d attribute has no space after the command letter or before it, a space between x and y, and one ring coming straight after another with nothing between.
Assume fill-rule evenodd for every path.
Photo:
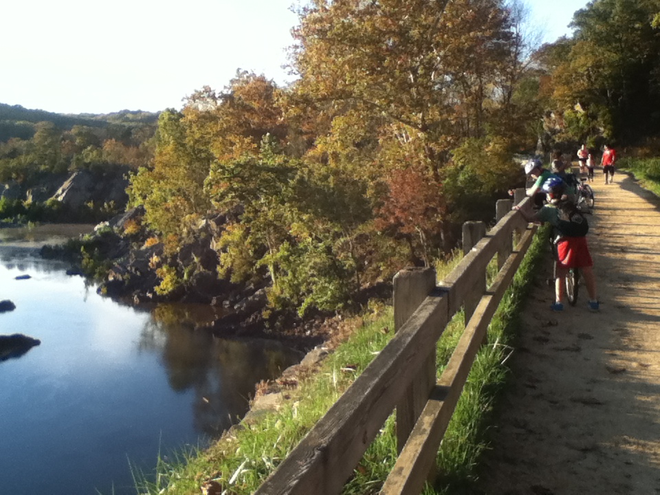
<instances>
[{"instance_id":1,"label":"pale bright sky above the hills and between the treetops","mask_svg":"<svg viewBox=\"0 0 660 495\"><path fill-rule=\"evenodd\" d=\"M543 41L586 0L524 0ZM3 0L0 103L58 113L181 108L247 69L278 85L299 0Z\"/></svg>"}]
</instances>

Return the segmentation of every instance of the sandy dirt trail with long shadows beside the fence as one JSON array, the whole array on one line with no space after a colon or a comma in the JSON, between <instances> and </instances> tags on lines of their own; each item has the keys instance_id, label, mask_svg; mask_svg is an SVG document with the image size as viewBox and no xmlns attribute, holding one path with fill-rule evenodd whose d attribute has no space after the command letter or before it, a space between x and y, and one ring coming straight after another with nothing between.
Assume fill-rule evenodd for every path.
<instances>
[{"instance_id":1,"label":"sandy dirt trail with long shadows beside the fence","mask_svg":"<svg viewBox=\"0 0 660 495\"><path fill-rule=\"evenodd\" d=\"M660 201L626 175L592 186L601 310L549 306L538 274L479 484L487 495L660 494Z\"/></svg>"}]
</instances>

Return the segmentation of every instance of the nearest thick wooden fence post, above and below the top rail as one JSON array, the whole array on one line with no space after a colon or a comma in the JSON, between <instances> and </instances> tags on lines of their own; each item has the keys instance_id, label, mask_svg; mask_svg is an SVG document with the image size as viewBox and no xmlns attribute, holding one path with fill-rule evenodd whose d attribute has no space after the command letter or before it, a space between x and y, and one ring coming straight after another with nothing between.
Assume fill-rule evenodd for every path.
<instances>
[{"instance_id":1,"label":"nearest thick wooden fence post, above and below the top rail","mask_svg":"<svg viewBox=\"0 0 660 495\"><path fill-rule=\"evenodd\" d=\"M408 268L394 276L394 331L403 327L435 287L435 270ZM397 404L397 451L401 452L435 386L435 350L423 362L419 374Z\"/></svg>"}]
</instances>

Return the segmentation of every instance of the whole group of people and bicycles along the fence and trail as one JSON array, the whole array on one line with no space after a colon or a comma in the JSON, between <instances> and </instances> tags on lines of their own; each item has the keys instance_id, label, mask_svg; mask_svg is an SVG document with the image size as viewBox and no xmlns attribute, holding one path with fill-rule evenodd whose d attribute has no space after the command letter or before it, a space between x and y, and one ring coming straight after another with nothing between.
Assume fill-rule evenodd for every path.
<instances>
[{"instance_id":1,"label":"whole group of people and bicycles along the fence and trail","mask_svg":"<svg viewBox=\"0 0 660 495\"><path fill-rule=\"evenodd\" d=\"M525 220L547 222L551 225L551 243L555 259L555 302L550 306L553 311L563 311L566 288L570 293L569 302L575 303L577 293L571 292L577 290L577 270L584 277L589 296L588 308L598 311L600 306L593 274L593 261L586 242L588 223L578 208L578 205L589 195L591 204L588 206L593 207L593 191L584 184L584 181L593 181L595 160L584 145L577 151L577 159L580 162L580 172L586 173L586 177L582 179L570 173L570 170L566 172L569 164L564 162L561 153L553 154L551 170L544 168L538 159L527 162L525 175L534 182L526 192L527 196L533 198L535 211L529 216L518 206L514 206L514 210L519 210ZM604 146L601 163L605 184L613 182L615 159L614 149ZM566 283L567 276L571 279L569 284ZM575 277L574 281L573 277Z\"/></svg>"}]
</instances>

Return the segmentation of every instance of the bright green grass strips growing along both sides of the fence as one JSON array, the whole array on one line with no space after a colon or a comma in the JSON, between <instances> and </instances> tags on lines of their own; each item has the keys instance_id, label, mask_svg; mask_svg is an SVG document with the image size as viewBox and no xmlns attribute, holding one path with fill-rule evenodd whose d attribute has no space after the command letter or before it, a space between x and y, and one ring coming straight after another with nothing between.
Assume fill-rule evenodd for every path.
<instances>
[{"instance_id":1,"label":"bright green grass strips growing along both sides of the fence","mask_svg":"<svg viewBox=\"0 0 660 495\"><path fill-rule=\"evenodd\" d=\"M439 483L427 487L425 494L466 492L478 476L494 404L506 384L505 362L518 331L518 315L532 272L543 255L545 238L544 232L537 234L489 326L489 343L478 353L438 453ZM439 278L443 270L438 270ZM394 325L390 307L373 307L360 321L364 325L329 355L319 373L303 380L291 392L291 398L280 410L268 412L253 423L243 421L208 450L190 450L173 457L173 461L159 456L155 473L135 475L138 493L199 494L200 485L208 479L217 481L228 495L254 492L391 340ZM461 312L454 316L437 344L438 375L463 328ZM395 463L396 451L395 417L391 415L356 467L344 493L376 494Z\"/></svg>"}]
</instances>

